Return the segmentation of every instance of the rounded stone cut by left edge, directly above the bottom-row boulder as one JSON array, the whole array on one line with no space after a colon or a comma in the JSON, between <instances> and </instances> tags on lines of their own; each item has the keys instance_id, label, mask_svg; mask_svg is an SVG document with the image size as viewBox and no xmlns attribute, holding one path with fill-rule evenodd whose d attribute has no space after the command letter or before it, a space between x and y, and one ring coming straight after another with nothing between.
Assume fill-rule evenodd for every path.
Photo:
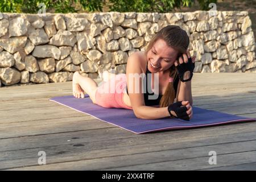
<instances>
[{"instance_id":1,"label":"rounded stone cut by left edge, directly above the bottom-row boulder","mask_svg":"<svg viewBox=\"0 0 256 182\"><path fill-rule=\"evenodd\" d=\"M20 81L21 74L13 68L0 68L0 80L4 85L13 85Z\"/></svg>"}]
</instances>

